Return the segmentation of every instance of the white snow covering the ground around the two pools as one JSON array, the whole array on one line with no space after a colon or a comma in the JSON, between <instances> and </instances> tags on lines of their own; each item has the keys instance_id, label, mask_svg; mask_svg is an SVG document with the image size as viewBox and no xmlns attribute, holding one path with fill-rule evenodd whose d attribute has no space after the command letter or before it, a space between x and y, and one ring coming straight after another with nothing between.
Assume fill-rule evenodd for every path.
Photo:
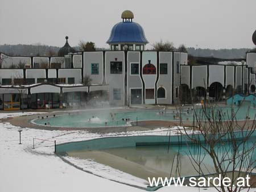
<instances>
[{"instance_id":1,"label":"white snow covering the ground around the two pools","mask_svg":"<svg viewBox=\"0 0 256 192\"><path fill-rule=\"evenodd\" d=\"M1 118L19 115L38 114L39 112L1 113ZM22 145L19 145L19 132L22 130ZM67 157L72 164L98 174L102 177L83 172L61 158L54 155L54 144L68 141L94 139L102 136L125 135L166 135L168 128L158 128L154 131L123 132L110 134L88 133L86 131L46 131L31 128L20 128L10 123L0 122L0 191L143 191L136 187L110 181L115 180L131 185L143 186L143 180L115 170L106 165L90 160L79 160ZM172 128L171 135L178 128ZM35 149L32 149L33 138ZM105 171L103 171L105 170ZM106 179L108 178L108 179ZM139 183L139 184L138 184ZM163 187L159 191L198 191L193 187ZM208 191L215 191L208 189Z\"/></svg>"}]
</instances>

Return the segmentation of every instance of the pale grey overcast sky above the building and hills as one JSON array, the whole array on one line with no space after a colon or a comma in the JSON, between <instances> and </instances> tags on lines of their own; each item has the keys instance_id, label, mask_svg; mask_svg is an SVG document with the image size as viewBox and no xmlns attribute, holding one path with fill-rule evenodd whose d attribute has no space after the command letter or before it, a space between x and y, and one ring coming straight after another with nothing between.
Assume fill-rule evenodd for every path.
<instances>
[{"instance_id":1,"label":"pale grey overcast sky above the building and hills","mask_svg":"<svg viewBox=\"0 0 256 192\"><path fill-rule=\"evenodd\" d=\"M0 44L63 46L65 36L106 47L123 10L134 13L150 44L253 48L256 0L0 0ZM150 45L148 45L150 48Z\"/></svg>"}]
</instances>

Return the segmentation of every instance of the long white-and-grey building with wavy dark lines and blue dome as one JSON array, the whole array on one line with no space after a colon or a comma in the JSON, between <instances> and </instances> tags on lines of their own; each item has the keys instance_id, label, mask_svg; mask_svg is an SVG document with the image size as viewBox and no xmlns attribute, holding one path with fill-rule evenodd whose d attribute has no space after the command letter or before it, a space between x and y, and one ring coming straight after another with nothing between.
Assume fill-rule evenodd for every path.
<instances>
[{"instance_id":1,"label":"long white-and-grey building with wavy dark lines and blue dome","mask_svg":"<svg viewBox=\"0 0 256 192\"><path fill-rule=\"evenodd\" d=\"M109 51L75 52L66 37L56 57L0 53L0 110L78 107L102 95L110 105L125 106L255 94L255 49L246 62L188 65L187 53L144 51L148 41L133 18L123 12L107 41Z\"/></svg>"}]
</instances>

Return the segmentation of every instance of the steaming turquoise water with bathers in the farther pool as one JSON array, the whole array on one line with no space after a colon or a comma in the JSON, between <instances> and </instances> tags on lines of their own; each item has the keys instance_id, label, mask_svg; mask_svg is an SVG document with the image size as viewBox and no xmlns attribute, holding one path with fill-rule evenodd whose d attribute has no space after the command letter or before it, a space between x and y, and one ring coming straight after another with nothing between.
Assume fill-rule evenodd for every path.
<instances>
[{"instance_id":1,"label":"steaming turquoise water with bathers in the farther pool","mask_svg":"<svg viewBox=\"0 0 256 192\"><path fill-rule=\"evenodd\" d=\"M249 109L249 110L248 110ZM244 120L246 116L254 119L256 110L244 103L239 109L238 107L215 107L211 111L216 118L222 114L223 120L230 119L231 114L236 116L237 120ZM181 118L183 120L193 120L195 113L200 119L204 120L202 109L199 107L195 110L191 108L182 108ZM127 126L130 122L136 120L177 120L179 121L179 113L176 110L92 110L84 111L79 114L59 115L51 118L35 119L34 123L57 127L104 127L104 126Z\"/></svg>"}]
</instances>

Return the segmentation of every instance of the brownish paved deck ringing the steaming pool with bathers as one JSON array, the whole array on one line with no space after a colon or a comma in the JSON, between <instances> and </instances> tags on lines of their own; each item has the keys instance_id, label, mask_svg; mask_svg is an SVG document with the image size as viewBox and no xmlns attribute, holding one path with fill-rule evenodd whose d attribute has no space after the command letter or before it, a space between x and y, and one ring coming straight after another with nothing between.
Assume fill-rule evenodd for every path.
<instances>
[{"instance_id":1,"label":"brownish paved deck ringing the steaming pool with bathers","mask_svg":"<svg viewBox=\"0 0 256 192\"><path fill-rule=\"evenodd\" d=\"M218 104L219 106L224 106L223 103ZM164 106L154 106L154 105L143 105L141 107L116 107L116 108L109 108L111 110L120 110L120 111L134 111L134 110L163 110ZM187 106L191 107L191 106ZM176 110L176 106L166 106L167 110ZM107 108L108 109L108 108ZM64 131L74 131L74 130L85 130L92 133L112 133L112 132L126 132L126 131L148 131L154 130L155 128L159 127L174 127L180 126L179 119L177 120L140 120L138 124L135 122L131 123L131 126L113 126L113 127L53 127L53 126L44 126L40 124L31 123L31 120L37 119L38 117L41 118L42 116L46 118L46 116L53 116L53 115L63 115L63 114L79 114L80 112L95 110L92 108L86 110L71 110L70 108L67 109L51 109L51 110L25 110L26 112L42 112L42 114L35 114L35 115L27 115L27 116L18 116L18 117L10 117L6 119L2 119L2 122L9 122L14 126L22 127L22 128L35 128L40 130L64 130ZM101 110L98 108L97 110ZM106 110L103 108L102 110ZM9 112L10 111L3 111ZM17 111L12 111L17 112ZM19 111L20 112L20 111ZM254 125L254 120L238 120L237 125L240 127L245 126L246 128L252 127ZM181 126L184 127L191 127L193 126L193 122L191 120L182 120Z\"/></svg>"}]
</instances>

